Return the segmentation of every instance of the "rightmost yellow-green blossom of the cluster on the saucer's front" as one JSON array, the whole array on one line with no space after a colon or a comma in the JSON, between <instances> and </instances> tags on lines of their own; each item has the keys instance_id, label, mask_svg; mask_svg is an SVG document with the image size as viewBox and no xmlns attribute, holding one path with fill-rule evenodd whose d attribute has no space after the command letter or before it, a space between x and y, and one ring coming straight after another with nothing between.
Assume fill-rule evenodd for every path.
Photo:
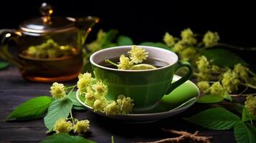
<instances>
[{"instance_id":1,"label":"rightmost yellow-green blossom of the cluster on the saucer's front","mask_svg":"<svg viewBox=\"0 0 256 143\"><path fill-rule=\"evenodd\" d=\"M125 97L123 94L118 96L116 100L117 106L119 108L120 114L128 114L133 109L133 99L130 97Z\"/></svg>"}]
</instances>

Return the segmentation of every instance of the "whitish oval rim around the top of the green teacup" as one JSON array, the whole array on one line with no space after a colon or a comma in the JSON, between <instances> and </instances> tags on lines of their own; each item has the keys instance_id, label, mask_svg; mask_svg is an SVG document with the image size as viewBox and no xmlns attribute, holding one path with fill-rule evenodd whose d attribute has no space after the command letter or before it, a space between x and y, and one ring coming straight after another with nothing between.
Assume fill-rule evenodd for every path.
<instances>
[{"instance_id":1,"label":"whitish oval rim around the top of the green teacup","mask_svg":"<svg viewBox=\"0 0 256 143\"><path fill-rule=\"evenodd\" d=\"M161 69L166 69L170 66L173 66L174 64L176 64L179 60L179 57L177 56L177 54L174 53L174 51L169 51L167 49L163 49L163 48L159 48L159 47L156 47L156 46L143 46L143 45L138 45L138 46L141 46L141 47L146 47L146 48L152 48L152 49L158 49L158 50L161 50L161 51L166 51L166 52L170 52L171 54L174 55L175 57L175 61L174 63L172 64L168 64L167 66L163 66L163 67L159 67L159 68L156 68L156 69L143 69L143 70L131 70L131 69L113 69L113 68L109 68L109 67L105 67L105 66L101 66L100 64L97 64L93 61L93 56L99 54L100 52L104 52L104 51L108 51L108 50L111 50L111 49L119 49L119 48L127 48L127 47L131 47L133 45L126 45L126 46L113 46L113 47L110 47L110 48L107 48L107 49L101 49L99 51L96 51L95 53L93 53L91 56L90 56L90 63L93 64L94 66L98 66L100 67L101 69L107 69L107 70L110 70L110 71L124 71L124 72L145 72L145 71L157 71L157 70L161 70ZM136 45L137 46L137 45Z\"/></svg>"}]
</instances>

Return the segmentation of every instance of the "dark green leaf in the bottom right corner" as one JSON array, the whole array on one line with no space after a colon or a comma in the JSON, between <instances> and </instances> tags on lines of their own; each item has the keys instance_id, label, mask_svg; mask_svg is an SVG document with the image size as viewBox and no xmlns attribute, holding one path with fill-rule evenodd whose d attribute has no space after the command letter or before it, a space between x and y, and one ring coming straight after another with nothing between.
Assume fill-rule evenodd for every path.
<instances>
[{"instance_id":1,"label":"dark green leaf in the bottom right corner","mask_svg":"<svg viewBox=\"0 0 256 143\"><path fill-rule=\"evenodd\" d=\"M234 124L234 137L237 143L255 143L256 132L255 129L248 126L244 122L237 122Z\"/></svg>"}]
</instances>

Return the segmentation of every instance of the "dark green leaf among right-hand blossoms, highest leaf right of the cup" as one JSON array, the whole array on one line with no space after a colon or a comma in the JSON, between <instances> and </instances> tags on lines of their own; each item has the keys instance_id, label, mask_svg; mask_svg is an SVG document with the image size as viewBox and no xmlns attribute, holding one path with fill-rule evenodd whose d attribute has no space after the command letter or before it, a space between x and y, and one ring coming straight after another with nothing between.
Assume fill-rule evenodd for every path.
<instances>
[{"instance_id":1,"label":"dark green leaf among right-hand blossoms, highest leaf right of the cup","mask_svg":"<svg viewBox=\"0 0 256 143\"><path fill-rule=\"evenodd\" d=\"M207 57L209 61L212 61L212 64L216 64L217 66L229 66L233 67L235 64L241 63L247 65L247 63L234 54L232 51L228 51L226 49L197 49L204 56Z\"/></svg>"}]
</instances>

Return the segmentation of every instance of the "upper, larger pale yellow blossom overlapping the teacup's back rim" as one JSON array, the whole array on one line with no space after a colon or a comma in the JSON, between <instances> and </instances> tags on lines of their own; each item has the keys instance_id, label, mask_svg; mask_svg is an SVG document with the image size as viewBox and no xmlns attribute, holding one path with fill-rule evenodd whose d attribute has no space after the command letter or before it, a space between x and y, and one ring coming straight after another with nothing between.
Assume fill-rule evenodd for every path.
<instances>
[{"instance_id":1,"label":"upper, larger pale yellow blossom overlapping the teacup's back rim","mask_svg":"<svg viewBox=\"0 0 256 143\"><path fill-rule=\"evenodd\" d=\"M147 59L148 52L146 49L143 49L138 46L131 46L131 51L128 51L130 59L133 63L138 64L141 63L143 60Z\"/></svg>"}]
</instances>

